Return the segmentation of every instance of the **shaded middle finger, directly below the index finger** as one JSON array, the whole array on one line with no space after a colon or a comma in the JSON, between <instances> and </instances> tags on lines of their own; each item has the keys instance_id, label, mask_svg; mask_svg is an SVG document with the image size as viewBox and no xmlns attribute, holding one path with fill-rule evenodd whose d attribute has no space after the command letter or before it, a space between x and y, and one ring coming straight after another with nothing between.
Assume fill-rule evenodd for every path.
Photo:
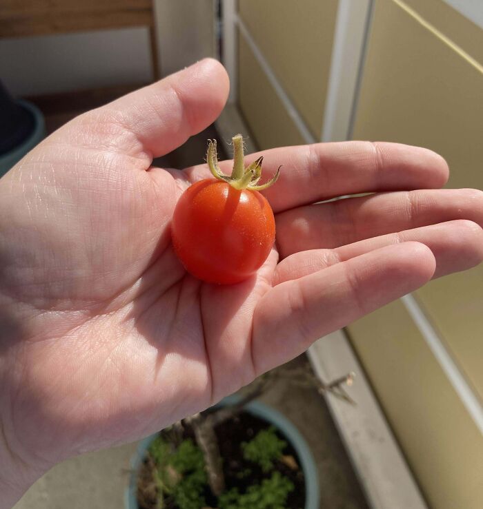
<instances>
[{"instance_id":1,"label":"shaded middle finger, directly below the index finger","mask_svg":"<svg viewBox=\"0 0 483 509\"><path fill-rule=\"evenodd\" d=\"M284 258L453 219L483 225L483 191L400 191L297 207L277 214L277 247Z\"/></svg>"}]
</instances>

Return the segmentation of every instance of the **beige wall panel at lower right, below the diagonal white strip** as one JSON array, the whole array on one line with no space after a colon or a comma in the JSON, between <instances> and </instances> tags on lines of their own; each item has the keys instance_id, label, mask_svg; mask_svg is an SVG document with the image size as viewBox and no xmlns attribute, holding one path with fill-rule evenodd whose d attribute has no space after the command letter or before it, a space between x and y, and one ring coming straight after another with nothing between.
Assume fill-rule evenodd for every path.
<instances>
[{"instance_id":1,"label":"beige wall panel at lower right, below the diagonal white strip","mask_svg":"<svg viewBox=\"0 0 483 509\"><path fill-rule=\"evenodd\" d=\"M480 509L483 437L403 304L347 330L429 506Z\"/></svg>"}]
</instances>

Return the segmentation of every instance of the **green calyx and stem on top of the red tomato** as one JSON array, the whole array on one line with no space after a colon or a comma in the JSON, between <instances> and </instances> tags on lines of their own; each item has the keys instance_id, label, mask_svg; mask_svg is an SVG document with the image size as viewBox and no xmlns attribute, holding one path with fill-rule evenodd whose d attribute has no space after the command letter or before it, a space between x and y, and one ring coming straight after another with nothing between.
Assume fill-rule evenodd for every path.
<instances>
[{"instance_id":1,"label":"green calyx and stem on top of the red tomato","mask_svg":"<svg viewBox=\"0 0 483 509\"><path fill-rule=\"evenodd\" d=\"M248 167L245 167L243 136L241 134L237 134L236 136L233 136L232 140L233 172L231 175L225 175L221 173L221 170L218 166L217 141L208 140L208 154L206 155L206 159L208 160L208 167L210 167L210 172L215 178L218 180L224 180L232 187L235 187L235 189L250 189L252 191L263 191L263 189L267 189L267 187L270 187L271 185L275 184L275 182L277 182L281 166L278 167L277 172L273 178L262 185L258 185L260 177L262 176L262 161L264 160L263 156L253 161L253 163L251 163L251 165Z\"/></svg>"}]
</instances>

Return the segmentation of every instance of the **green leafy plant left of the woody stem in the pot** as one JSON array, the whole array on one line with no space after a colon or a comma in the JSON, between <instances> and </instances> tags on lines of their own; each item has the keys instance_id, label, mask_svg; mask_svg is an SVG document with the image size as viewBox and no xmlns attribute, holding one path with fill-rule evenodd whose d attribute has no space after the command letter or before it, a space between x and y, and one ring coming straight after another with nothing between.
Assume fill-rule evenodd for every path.
<instances>
[{"instance_id":1,"label":"green leafy plant left of the woody stem in the pot","mask_svg":"<svg viewBox=\"0 0 483 509\"><path fill-rule=\"evenodd\" d=\"M172 496L179 509L199 509L206 506L203 492L208 478L204 457L193 440L186 439L173 450L159 436L150 445L149 453L156 466L160 499Z\"/></svg>"}]
</instances>

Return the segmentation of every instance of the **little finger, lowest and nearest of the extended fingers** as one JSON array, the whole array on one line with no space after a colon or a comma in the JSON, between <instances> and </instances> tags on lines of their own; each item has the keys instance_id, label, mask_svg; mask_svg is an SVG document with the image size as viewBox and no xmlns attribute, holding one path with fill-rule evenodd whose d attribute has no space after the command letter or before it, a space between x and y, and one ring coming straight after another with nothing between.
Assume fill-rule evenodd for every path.
<instances>
[{"instance_id":1,"label":"little finger, lowest and nearest of the extended fingers","mask_svg":"<svg viewBox=\"0 0 483 509\"><path fill-rule=\"evenodd\" d=\"M428 247L404 242L277 285L255 310L256 372L288 362L319 337L414 291L434 271Z\"/></svg>"}]
</instances>

